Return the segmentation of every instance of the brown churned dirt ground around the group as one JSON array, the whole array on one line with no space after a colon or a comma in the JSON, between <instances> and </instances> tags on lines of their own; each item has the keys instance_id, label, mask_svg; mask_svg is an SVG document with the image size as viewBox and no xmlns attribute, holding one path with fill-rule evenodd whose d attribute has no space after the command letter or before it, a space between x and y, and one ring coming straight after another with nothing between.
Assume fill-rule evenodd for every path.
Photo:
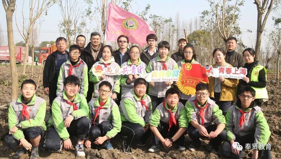
<instances>
[{"instance_id":1,"label":"brown churned dirt ground around the group","mask_svg":"<svg viewBox=\"0 0 281 159\"><path fill-rule=\"evenodd\" d=\"M40 67L35 67L33 76L30 76L31 74L31 66L27 68L27 75L28 79L31 78L37 82L38 75L39 75ZM21 75L22 73L22 66L18 66L18 73ZM267 119L267 123L269 125L269 129L271 131L271 136L269 139L269 143L272 144L271 146L271 155L272 158L281 158L281 89L280 86L277 86L276 84L271 84L271 80L274 78L273 74L268 74L268 82L267 82L267 91L269 94L269 101L264 102L262 109L265 115L265 118ZM11 81L11 71L9 65L0 65L0 80L7 80ZM47 110L46 110L46 118L45 121L47 121L50 118L49 114L49 98L43 93L43 78L41 76L40 79L40 85L38 87L36 95L39 97L42 97L47 101ZM281 84L280 84L281 85ZM0 105L4 105L6 103L11 102L10 96L11 96L11 86L4 86L0 84ZM5 137L8 134L8 111L7 109L0 109L0 158L12 158L13 154L15 153L14 149L9 150L9 148L5 144ZM116 136L112 139L114 150L95 150L95 149L85 149L86 152L86 158L101 158L101 159L143 159L143 158L151 158L151 159L187 159L187 158L196 158L196 159L219 159L223 158L221 156L215 155L213 153L210 153L206 149L206 145L209 141L205 140L203 141L202 147L198 149L196 152L190 152L188 150L185 151L178 151L175 150L175 148L165 149L160 148L160 152L157 153L150 153L148 152L149 146L140 147L137 150L133 150L132 155L127 155L124 152L122 152L122 145L121 145L121 137ZM75 141L73 142L73 144ZM189 145L191 143L191 139L188 137L188 135L185 136L185 145ZM42 147L43 144L40 144L39 151L40 151L40 158L59 158L59 159L72 159L75 158L75 150L72 148L70 151L63 150L62 153L51 153L47 152ZM251 151L248 152L248 155L246 158L251 157ZM29 158L30 154L25 154L21 158L26 159Z\"/></svg>"}]
</instances>

